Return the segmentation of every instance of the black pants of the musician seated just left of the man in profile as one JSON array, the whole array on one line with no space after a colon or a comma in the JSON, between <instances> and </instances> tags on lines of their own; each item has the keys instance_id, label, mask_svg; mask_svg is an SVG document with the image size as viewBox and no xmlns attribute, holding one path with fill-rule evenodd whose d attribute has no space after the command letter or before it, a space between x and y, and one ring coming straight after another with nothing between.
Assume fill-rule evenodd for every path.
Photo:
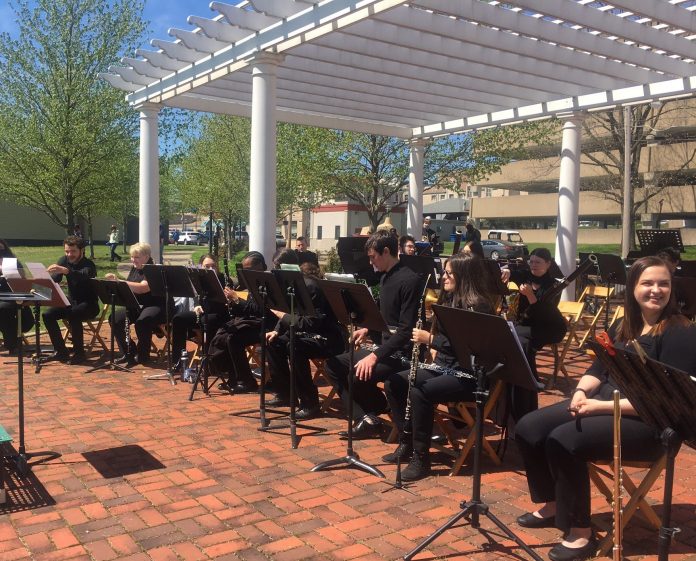
<instances>
[{"instance_id":1,"label":"black pants of the musician seated just left of the man in profile","mask_svg":"<svg viewBox=\"0 0 696 561\"><path fill-rule=\"evenodd\" d=\"M312 380L310 358L328 358L343 350L343 341L335 343L312 337L295 336L295 389L302 408L319 405L319 390ZM290 397L290 333L276 337L267 347L271 377L278 395Z\"/></svg>"}]
</instances>

